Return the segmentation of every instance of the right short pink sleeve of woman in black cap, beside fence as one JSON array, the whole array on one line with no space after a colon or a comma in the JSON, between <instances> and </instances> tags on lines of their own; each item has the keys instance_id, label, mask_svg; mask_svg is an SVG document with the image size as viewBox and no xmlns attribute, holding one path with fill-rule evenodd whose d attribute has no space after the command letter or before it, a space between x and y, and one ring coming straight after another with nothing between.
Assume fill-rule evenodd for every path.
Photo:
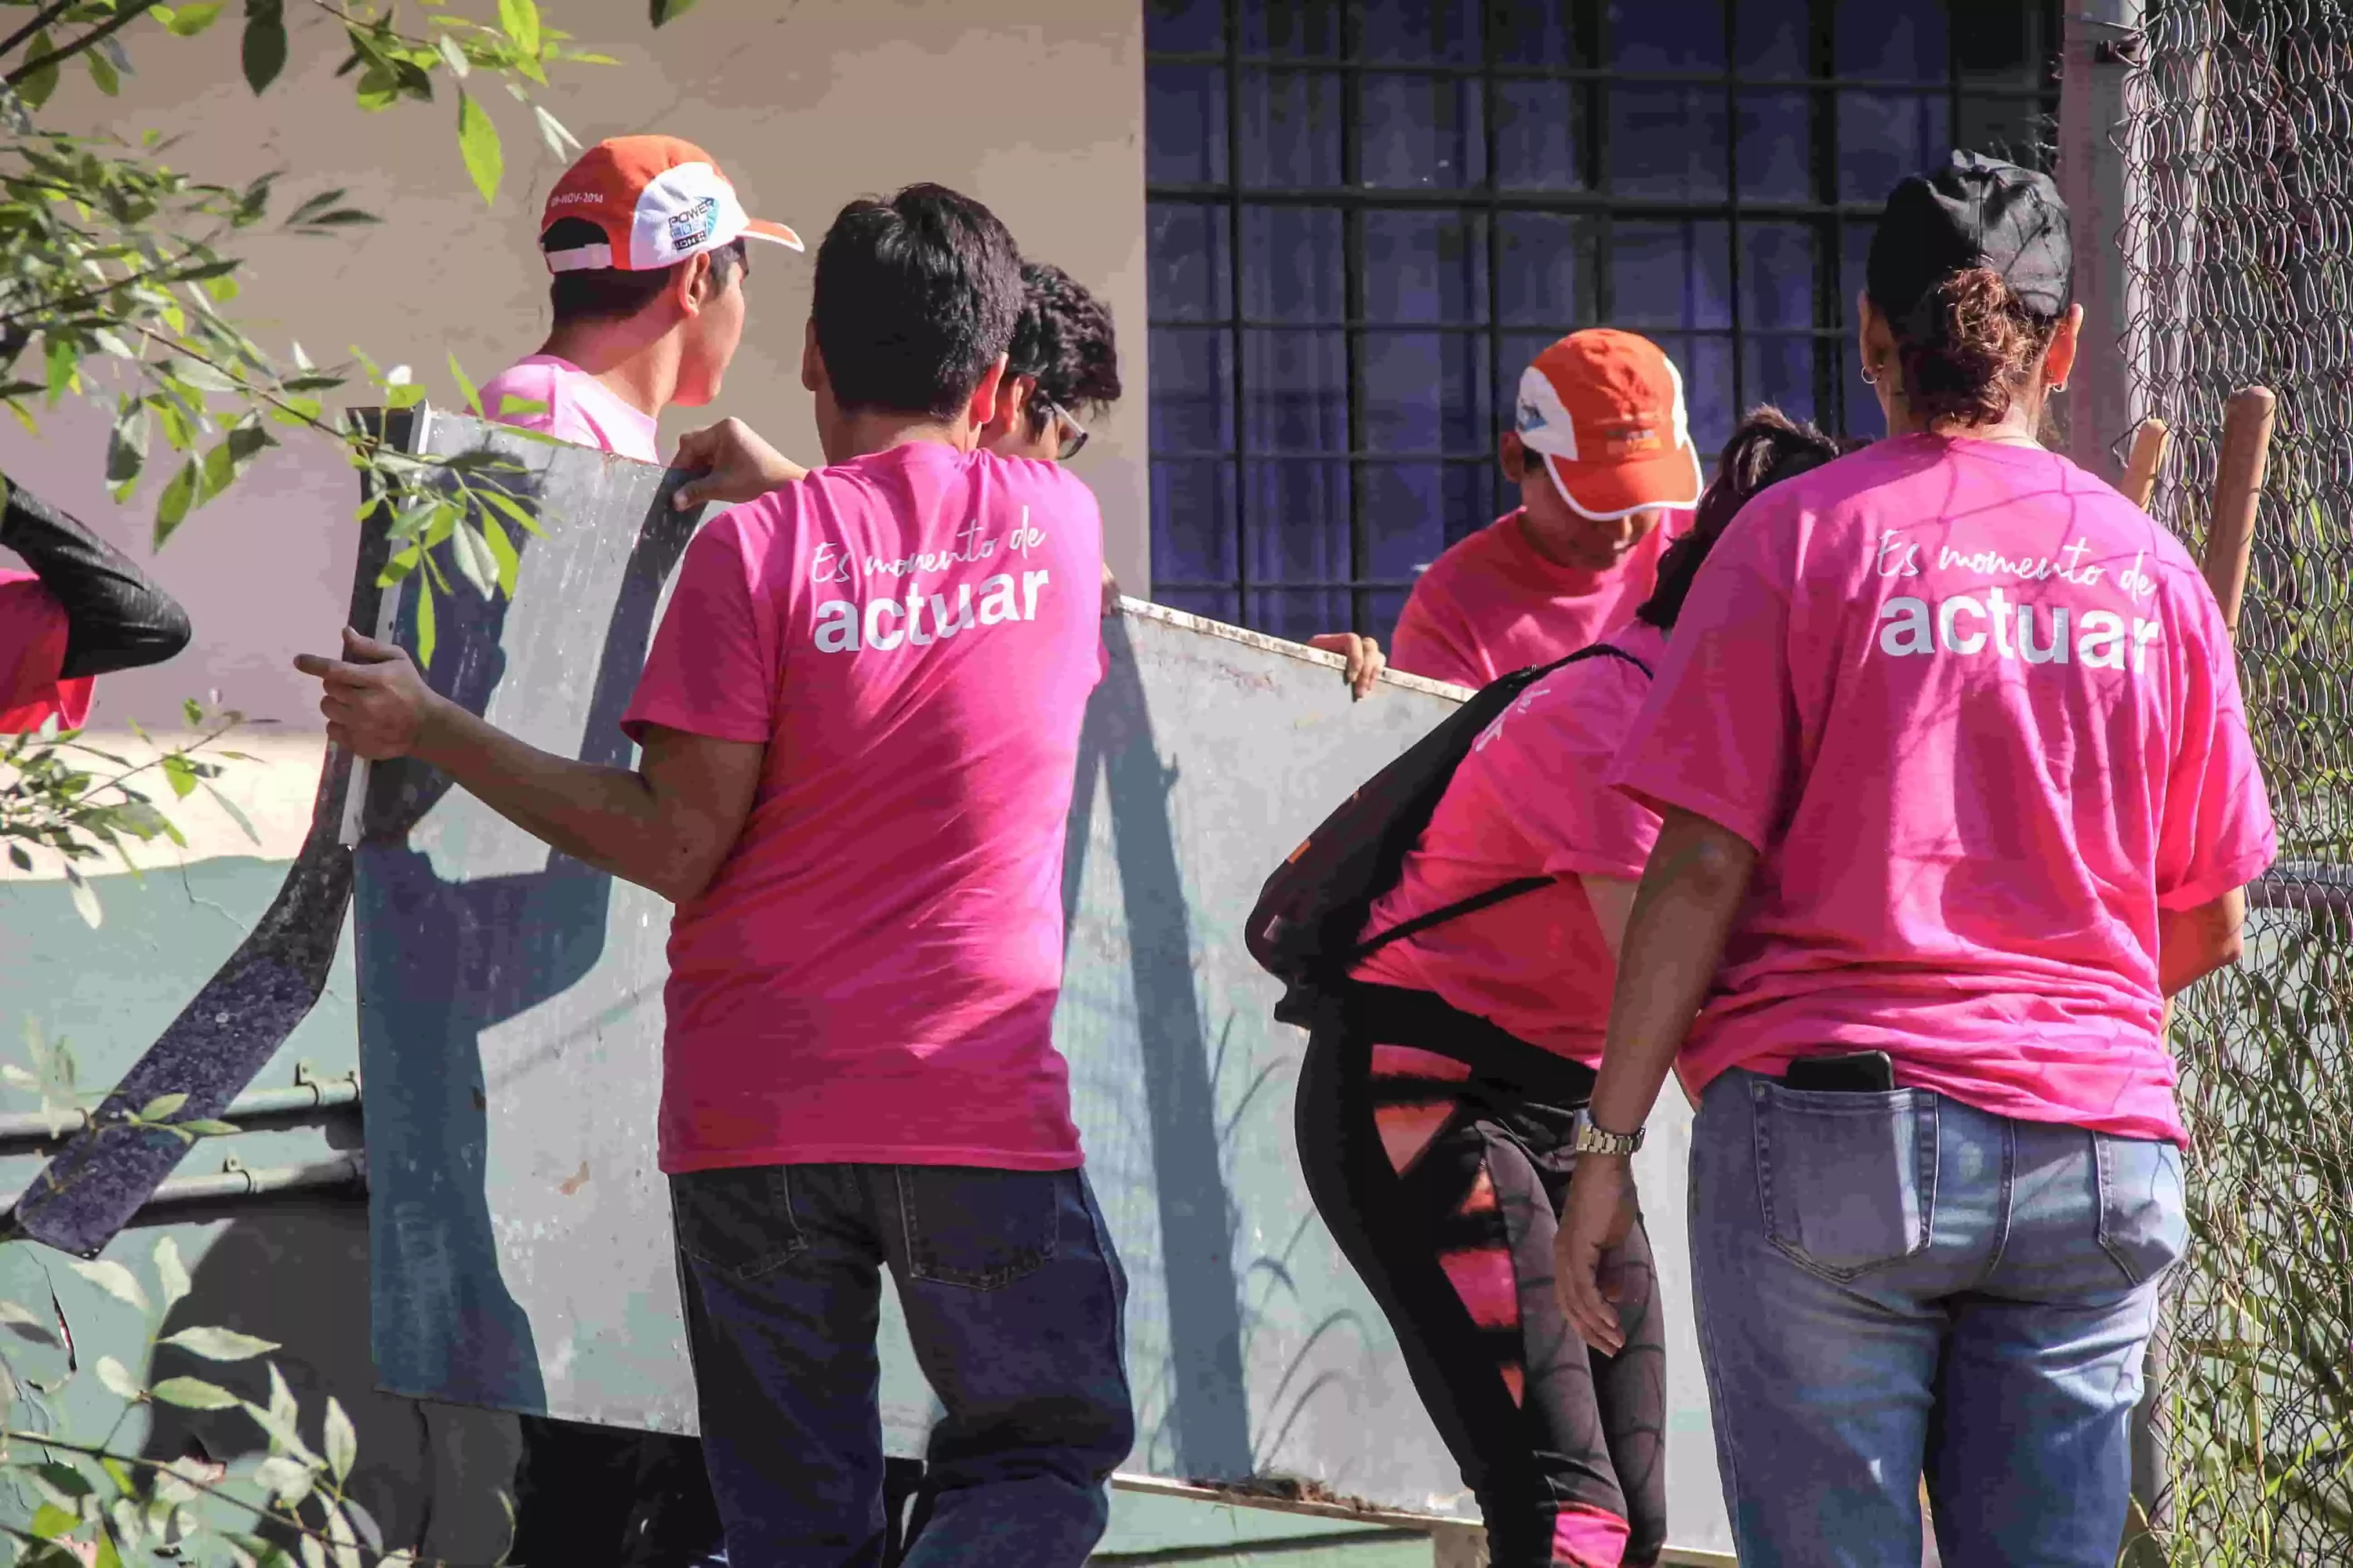
<instances>
[{"instance_id":1,"label":"right short pink sleeve of woman in black cap, beside fence","mask_svg":"<svg viewBox=\"0 0 2353 1568\"><path fill-rule=\"evenodd\" d=\"M2207 625L2205 637L2184 649L2184 703L2158 820L2160 910L2214 903L2261 877L2278 856L2231 637L2221 614L2205 595L2198 599Z\"/></svg>"}]
</instances>

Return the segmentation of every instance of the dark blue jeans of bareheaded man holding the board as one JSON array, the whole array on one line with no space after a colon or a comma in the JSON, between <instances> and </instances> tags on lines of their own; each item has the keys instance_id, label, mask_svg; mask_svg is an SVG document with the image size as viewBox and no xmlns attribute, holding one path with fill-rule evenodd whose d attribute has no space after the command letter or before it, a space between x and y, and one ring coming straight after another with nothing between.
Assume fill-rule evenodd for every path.
<instances>
[{"instance_id":1,"label":"dark blue jeans of bareheaded man holding the board","mask_svg":"<svg viewBox=\"0 0 2353 1568\"><path fill-rule=\"evenodd\" d=\"M1127 1276L1080 1171L741 1166L671 1178L729 1568L882 1561L882 1269L946 1415L908 1568L1078 1568L1134 1446Z\"/></svg>"}]
</instances>

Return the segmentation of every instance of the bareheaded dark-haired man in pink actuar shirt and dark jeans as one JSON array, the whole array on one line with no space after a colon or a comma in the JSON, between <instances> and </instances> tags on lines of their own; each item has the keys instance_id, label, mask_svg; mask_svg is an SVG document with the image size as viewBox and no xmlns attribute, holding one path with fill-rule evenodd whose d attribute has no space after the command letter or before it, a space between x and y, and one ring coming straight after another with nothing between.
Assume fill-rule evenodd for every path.
<instances>
[{"instance_id":1,"label":"bareheaded dark-haired man in pink actuar shirt and dark jeans","mask_svg":"<svg viewBox=\"0 0 2353 1568\"><path fill-rule=\"evenodd\" d=\"M946 1408L906 1561L1078 1568L1134 1439L1052 1044L1101 515L979 449L1019 310L979 202L842 209L802 357L828 465L687 550L638 769L536 752L358 632L299 661L334 741L678 905L661 1166L736 1568L880 1552L885 1267Z\"/></svg>"}]
</instances>

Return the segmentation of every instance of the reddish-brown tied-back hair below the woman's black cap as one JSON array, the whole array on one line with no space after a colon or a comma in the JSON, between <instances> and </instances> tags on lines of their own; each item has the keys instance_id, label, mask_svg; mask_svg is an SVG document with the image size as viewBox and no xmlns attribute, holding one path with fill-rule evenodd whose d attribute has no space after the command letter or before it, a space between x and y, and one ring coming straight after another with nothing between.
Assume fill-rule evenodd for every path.
<instances>
[{"instance_id":1,"label":"reddish-brown tied-back hair below the woman's black cap","mask_svg":"<svg viewBox=\"0 0 2353 1568\"><path fill-rule=\"evenodd\" d=\"M1897 339L1904 404L1929 430L2000 423L2059 331L2057 320L2033 315L2009 282L1984 266L1951 273L1887 324Z\"/></svg>"}]
</instances>

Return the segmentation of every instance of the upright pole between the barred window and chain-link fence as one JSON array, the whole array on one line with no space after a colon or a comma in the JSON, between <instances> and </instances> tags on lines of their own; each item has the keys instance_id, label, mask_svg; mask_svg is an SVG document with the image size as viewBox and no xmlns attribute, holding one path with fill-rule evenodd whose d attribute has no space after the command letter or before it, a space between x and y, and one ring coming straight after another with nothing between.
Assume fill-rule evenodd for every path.
<instances>
[{"instance_id":1,"label":"upright pole between the barred window and chain-link fence","mask_svg":"<svg viewBox=\"0 0 2353 1568\"><path fill-rule=\"evenodd\" d=\"M2122 442L2151 414L2134 390L2134 355L2146 353L2146 334L2132 331L2125 256L2137 190L2122 148L2125 71L2139 26L2141 0L2073 0L2059 66L2059 195L2073 216L2075 301L2085 317L2068 383L2068 456L2111 482L2122 475Z\"/></svg>"}]
</instances>

